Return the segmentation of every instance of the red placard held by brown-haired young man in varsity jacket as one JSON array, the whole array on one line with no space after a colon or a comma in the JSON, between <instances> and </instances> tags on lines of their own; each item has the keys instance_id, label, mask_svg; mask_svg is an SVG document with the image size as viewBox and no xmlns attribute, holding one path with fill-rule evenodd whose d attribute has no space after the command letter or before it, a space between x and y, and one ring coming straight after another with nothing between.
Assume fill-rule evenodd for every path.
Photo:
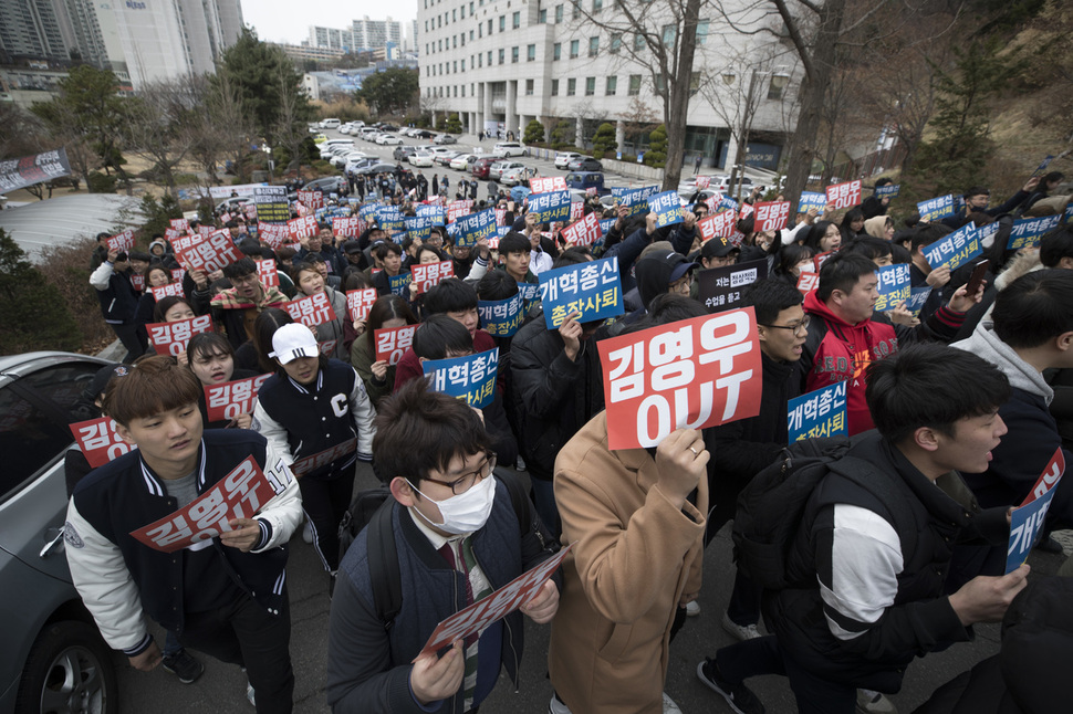
<instances>
[{"instance_id":1,"label":"red placard held by brown-haired young man in varsity jacket","mask_svg":"<svg viewBox=\"0 0 1073 714\"><path fill-rule=\"evenodd\" d=\"M185 508L132 531L131 535L154 550L164 553L191 546L200 549L221 533L231 531L231 519L252 518L264 504L283 493L290 480L291 472L282 461L264 473L253 456L247 456L231 473Z\"/></svg>"}]
</instances>

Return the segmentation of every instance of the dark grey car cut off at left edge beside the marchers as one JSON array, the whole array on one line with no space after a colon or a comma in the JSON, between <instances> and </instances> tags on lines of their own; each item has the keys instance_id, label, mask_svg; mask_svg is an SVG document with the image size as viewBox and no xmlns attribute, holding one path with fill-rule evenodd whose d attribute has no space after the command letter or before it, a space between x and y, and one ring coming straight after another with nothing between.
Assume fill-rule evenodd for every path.
<instances>
[{"instance_id":1,"label":"dark grey car cut off at left edge beside the marchers","mask_svg":"<svg viewBox=\"0 0 1073 714\"><path fill-rule=\"evenodd\" d=\"M0 712L118 711L114 654L71 582L63 539L70 424L98 416L81 397L106 364L0 357Z\"/></svg>"}]
</instances>

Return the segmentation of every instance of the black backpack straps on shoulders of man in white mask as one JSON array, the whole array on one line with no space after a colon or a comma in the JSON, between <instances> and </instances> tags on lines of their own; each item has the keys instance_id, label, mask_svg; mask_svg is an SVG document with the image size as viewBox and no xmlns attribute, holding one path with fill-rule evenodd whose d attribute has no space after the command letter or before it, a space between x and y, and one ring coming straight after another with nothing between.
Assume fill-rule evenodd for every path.
<instances>
[{"instance_id":1,"label":"black backpack straps on shoulders of man in white mask","mask_svg":"<svg viewBox=\"0 0 1073 714\"><path fill-rule=\"evenodd\" d=\"M496 477L507 485L510 503L518 518L520 534L524 537L532 529L545 550L556 553L560 544L544 529L536 510L529 500L518 477L502 469L496 469ZM398 550L395 547L395 531L392 526L392 511L395 500L387 486L363 491L354 496L350 508L340 523L340 561L357 534L368 527L368 571L373 586L373 607L376 617L389 630L395 617L403 608L402 575L398 570Z\"/></svg>"}]
</instances>

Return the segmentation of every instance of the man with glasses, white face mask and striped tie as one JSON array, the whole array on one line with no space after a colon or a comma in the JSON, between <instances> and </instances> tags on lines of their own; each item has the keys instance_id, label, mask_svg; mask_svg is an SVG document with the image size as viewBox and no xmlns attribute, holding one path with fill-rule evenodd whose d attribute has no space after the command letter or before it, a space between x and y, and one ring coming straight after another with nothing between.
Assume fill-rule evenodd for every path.
<instances>
[{"instance_id":1,"label":"man with glasses, white face mask and striped tie","mask_svg":"<svg viewBox=\"0 0 1073 714\"><path fill-rule=\"evenodd\" d=\"M559 608L559 576L521 607L442 655L418 658L436 626L553 555L528 500L492 475L496 454L478 412L412 380L381 402L373 454L389 481L400 609L377 616L369 532L343 558L327 652L327 701L340 712L476 712L507 668L518 681L521 615L544 623ZM509 477L509 476L507 476ZM415 659L417 658L417 659ZM446 706L445 706L446 705Z\"/></svg>"}]
</instances>

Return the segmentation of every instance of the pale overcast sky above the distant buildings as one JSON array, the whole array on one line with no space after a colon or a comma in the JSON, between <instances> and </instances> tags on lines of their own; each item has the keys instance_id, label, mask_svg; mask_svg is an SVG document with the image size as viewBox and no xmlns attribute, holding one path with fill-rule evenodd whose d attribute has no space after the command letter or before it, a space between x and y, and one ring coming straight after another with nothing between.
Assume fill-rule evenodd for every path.
<instances>
[{"instance_id":1,"label":"pale overcast sky above the distant buildings","mask_svg":"<svg viewBox=\"0 0 1073 714\"><path fill-rule=\"evenodd\" d=\"M340 30L352 20L368 15L369 20L385 20L390 9L392 20L413 20L417 17L417 0L385 3L376 0L241 0L242 19L269 42L298 44L310 36L310 25ZM404 28L403 35L409 36Z\"/></svg>"}]
</instances>

